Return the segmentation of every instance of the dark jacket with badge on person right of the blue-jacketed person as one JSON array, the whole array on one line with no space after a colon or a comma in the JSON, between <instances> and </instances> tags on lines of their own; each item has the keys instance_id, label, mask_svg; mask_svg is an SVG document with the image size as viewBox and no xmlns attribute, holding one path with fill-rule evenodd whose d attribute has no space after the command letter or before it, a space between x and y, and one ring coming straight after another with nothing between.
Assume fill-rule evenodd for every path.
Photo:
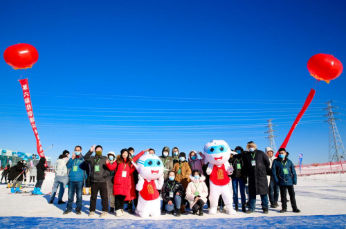
<instances>
[{"instance_id":1,"label":"dark jacket with badge on person right of the blue-jacketed person","mask_svg":"<svg viewBox=\"0 0 346 229\"><path fill-rule=\"evenodd\" d=\"M107 156L91 156L93 152L89 150L84 156L84 161L87 163L90 163L91 165L91 182L92 183L101 183L101 182L107 182L107 178L109 176L109 170L107 170L106 167L106 160ZM95 171L95 165L100 166L100 170L98 172Z\"/></svg>"}]
</instances>

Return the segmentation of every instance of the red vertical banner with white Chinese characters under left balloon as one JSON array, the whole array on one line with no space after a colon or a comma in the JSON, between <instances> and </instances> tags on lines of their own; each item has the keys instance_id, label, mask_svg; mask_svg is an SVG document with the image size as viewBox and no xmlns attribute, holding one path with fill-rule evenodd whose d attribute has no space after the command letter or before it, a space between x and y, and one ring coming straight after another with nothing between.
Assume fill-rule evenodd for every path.
<instances>
[{"instance_id":1,"label":"red vertical banner with white Chinese characters under left balloon","mask_svg":"<svg viewBox=\"0 0 346 229\"><path fill-rule=\"evenodd\" d=\"M39 133L37 131L37 127L35 124L35 118L34 118L34 112L33 112L33 104L31 104L31 97L30 97L30 91L29 91L29 84L28 79L19 80L21 84L21 89L23 90L23 97L24 97L24 104L26 107L26 113L28 113L28 118L30 120L30 125L33 127L33 131L36 138L36 147L37 147L37 153L39 154L39 157L44 157L44 150L42 149L41 140L39 140ZM46 162L47 166L47 162Z\"/></svg>"}]
</instances>

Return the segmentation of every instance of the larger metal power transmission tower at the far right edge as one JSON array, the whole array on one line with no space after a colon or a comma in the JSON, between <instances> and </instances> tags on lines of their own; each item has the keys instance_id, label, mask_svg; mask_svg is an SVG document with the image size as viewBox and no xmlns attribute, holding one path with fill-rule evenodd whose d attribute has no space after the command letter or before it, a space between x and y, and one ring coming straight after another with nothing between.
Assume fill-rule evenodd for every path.
<instances>
[{"instance_id":1,"label":"larger metal power transmission tower at the far right edge","mask_svg":"<svg viewBox=\"0 0 346 229\"><path fill-rule=\"evenodd\" d=\"M327 114L325 117L327 117L327 120L325 122L329 123L329 163L334 161L341 161L341 158L345 160L345 148L343 145L343 141L340 138L340 134L338 131L338 127L336 127L336 120L339 120L338 118L334 118L334 115L338 115L338 112L333 112L333 108L338 108L331 106L331 102L326 102L327 108L323 109L324 111L327 111Z\"/></svg>"}]
</instances>

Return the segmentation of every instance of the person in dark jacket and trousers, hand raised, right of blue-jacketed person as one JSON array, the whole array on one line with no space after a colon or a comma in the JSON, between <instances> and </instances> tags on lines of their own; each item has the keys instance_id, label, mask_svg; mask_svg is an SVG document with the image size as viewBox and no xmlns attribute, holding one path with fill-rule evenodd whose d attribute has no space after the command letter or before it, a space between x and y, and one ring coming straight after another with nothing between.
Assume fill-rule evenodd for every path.
<instances>
[{"instance_id":1,"label":"person in dark jacket and trousers, hand raised, right of blue-jacketed person","mask_svg":"<svg viewBox=\"0 0 346 229\"><path fill-rule=\"evenodd\" d=\"M98 199L98 192L100 191L102 214L100 217L107 217L108 214L108 199L107 199L107 178L109 176L109 170L106 167L107 156L102 156L102 146L93 145L89 152L84 156L84 160L91 165L91 196L90 196L90 213L89 217L95 215L96 200ZM91 156L95 151L95 156Z\"/></svg>"}]
</instances>

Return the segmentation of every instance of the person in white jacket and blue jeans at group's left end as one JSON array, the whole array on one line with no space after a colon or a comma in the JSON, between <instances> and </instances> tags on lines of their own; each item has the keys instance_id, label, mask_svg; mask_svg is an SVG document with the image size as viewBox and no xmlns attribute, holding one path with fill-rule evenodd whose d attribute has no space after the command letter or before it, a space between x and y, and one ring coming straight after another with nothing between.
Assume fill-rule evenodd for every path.
<instances>
[{"instance_id":1,"label":"person in white jacket and blue jeans at group's left end","mask_svg":"<svg viewBox=\"0 0 346 229\"><path fill-rule=\"evenodd\" d=\"M57 204L66 203L62 201L62 196L64 196L65 188L69 182L69 176L66 164L69 163L69 158L66 154L61 154L54 165L55 178L53 183L53 190L51 192L51 200L48 202L53 204L55 199L55 194L57 194L57 187L60 186L59 196L57 198Z\"/></svg>"}]
</instances>

